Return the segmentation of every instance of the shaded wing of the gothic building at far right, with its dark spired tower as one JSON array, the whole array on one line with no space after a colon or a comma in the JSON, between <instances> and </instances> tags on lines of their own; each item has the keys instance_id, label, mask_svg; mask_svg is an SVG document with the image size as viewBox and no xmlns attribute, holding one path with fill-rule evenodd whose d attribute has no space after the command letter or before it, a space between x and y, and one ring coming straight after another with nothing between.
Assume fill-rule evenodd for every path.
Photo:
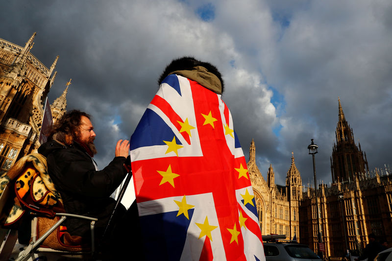
<instances>
[{"instance_id":1,"label":"shaded wing of the gothic building at far right, with its dark spired tower","mask_svg":"<svg viewBox=\"0 0 392 261\"><path fill-rule=\"evenodd\" d=\"M392 242L392 176L369 172L366 154L354 142L339 99L336 145L332 149L334 184L319 186L320 229L327 256L342 257L345 243L351 250L363 249L368 235ZM364 159L365 155L365 159ZM315 190L308 188L299 207L301 243L317 249ZM390 245L391 246L391 245Z\"/></svg>"}]
</instances>

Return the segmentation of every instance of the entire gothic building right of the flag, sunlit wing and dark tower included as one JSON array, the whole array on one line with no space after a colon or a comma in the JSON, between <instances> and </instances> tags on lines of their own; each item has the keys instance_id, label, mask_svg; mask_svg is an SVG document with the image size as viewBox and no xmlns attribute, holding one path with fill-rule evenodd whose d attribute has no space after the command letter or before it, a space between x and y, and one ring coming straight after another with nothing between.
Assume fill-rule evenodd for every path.
<instances>
[{"instance_id":1,"label":"entire gothic building right of the flag, sunlit wing and dark tower included","mask_svg":"<svg viewBox=\"0 0 392 261\"><path fill-rule=\"evenodd\" d=\"M356 146L353 131L344 118L339 101L336 144L332 148L331 186L320 185L317 190L319 223L325 244L325 255L342 257L347 248L364 249L368 235L386 239L392 246L392 176L389 171L368 170L366 153ZM297 235L315 252L317 246L317 213L314 188L302 190L299 171L292 166L287 172L286 186L274 184L272 166L267 182L255 164L252 141L248 170L259 212L263 235ZM340 259L339 259L340 260Z\"/></svg>"}]
</instances>

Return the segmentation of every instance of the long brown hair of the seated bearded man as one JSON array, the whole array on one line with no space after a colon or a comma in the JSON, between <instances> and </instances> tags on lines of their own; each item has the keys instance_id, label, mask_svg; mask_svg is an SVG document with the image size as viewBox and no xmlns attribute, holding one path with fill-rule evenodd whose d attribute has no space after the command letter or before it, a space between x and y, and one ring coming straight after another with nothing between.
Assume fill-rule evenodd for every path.
<instances>
[{"instance_id":1,"label":"long brown hair of the seated bearded man","mask_svg":"<svg viewBox=\"0 0 392 261\"><path fill-rule=\"evenodd\" d=\"M82 116L87 117L88 119L91 118L90 115L79 110L72 110L64 114L51 128L49 140L56 139L59 142L68 143L66 141L66 136L72 137L73 140L77 140Z\"/></svg>"}]
</instances>

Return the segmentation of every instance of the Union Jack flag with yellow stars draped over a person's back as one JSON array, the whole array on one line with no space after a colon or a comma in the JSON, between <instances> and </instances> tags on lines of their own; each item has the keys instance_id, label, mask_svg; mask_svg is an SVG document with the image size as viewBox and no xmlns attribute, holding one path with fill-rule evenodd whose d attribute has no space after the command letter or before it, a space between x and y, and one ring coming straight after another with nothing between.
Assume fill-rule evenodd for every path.
<instances>
[{"instance_id":1,"label":"Union Jack flag with yellow stars draped over a person's back","mask_svg":"<svg viewBox=\"0 0 392 261\"><path fill-rule=\"evenodd\" d=\"M147 260L265 261L245 157L221 95L167 76L130 143Z\"/></svg>"}]
</instances>

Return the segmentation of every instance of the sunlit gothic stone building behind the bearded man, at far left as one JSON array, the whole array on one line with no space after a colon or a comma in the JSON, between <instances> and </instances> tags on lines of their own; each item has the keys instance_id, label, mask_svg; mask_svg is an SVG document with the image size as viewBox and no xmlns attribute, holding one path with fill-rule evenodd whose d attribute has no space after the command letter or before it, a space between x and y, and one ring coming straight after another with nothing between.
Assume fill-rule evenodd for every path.
<instances>
[{"instance_id":1,"label":"sunlit gothic stone building behind the bearded man, at far left","mask_svg":"<svg viewBox=\"0 0 392 261\"><path fill-rule=\"evenodd\" d=\"M0 39L0 175L39 147L44 103L57 72L30 50L36 33L20 47ZM52 75L53 74L53 75ZM67 89L51 105L53 119L65 113Z\"/></svg>"}]
</instances>

